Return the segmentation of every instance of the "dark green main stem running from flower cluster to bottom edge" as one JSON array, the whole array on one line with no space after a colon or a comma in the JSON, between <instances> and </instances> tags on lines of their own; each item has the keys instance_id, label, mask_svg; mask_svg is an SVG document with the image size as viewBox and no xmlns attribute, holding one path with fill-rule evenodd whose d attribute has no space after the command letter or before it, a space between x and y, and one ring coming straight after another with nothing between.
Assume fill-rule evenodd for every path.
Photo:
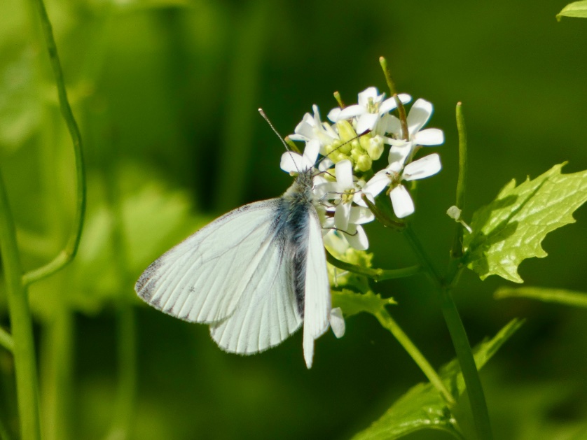
<instances>
[{"instance_id":1,"label":"dark green main stem running from flower cluster to bottom edge","mask_svg":"<svg viewBox=\"0 0 587 440\"><path fill-rule=\"evenodd\" d=\"M481 385L481 378L479 378L473 352L469 345L467 332L462 324L455 301L453 301L453 297L450 294L450 287L454 279L450 278L443 281L427 253L424 251L422 244L417 239L417 236L415 236L413 229L407 227L403 231L403 234L406 236L406 239L408 239L410 246L412 246L422 264L422 267L424 267L438 292L444 320L446 321L448 332L450 333L450 339L453 341L453 346L457 353L457 359L461 367L464 383L467 385L467 395L469 395L471 413L473 414L477 436L480 440L491 440L493 437L487 403L485 402L485 394L483 392L483 386ZM455 269L452 275L457 276L457 274L458 270Z\"/></svg>"}]
</instances>

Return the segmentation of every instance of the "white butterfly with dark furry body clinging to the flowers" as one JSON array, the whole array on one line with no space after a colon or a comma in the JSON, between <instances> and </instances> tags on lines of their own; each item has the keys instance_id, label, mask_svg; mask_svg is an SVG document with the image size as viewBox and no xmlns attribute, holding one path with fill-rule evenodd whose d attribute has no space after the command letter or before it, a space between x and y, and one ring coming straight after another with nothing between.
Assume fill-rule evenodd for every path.
<instances>
[{"instance_id":1,"label":"white butterfly with dark furry body clinging to the flowers","mask_svg":"<svg viewBox=\"0 0 587 440\"><path fill-rule=\"evenodd\" d=\"M310 368L331 313L323 208L312 192L315 161L291 152L284 158L299 172L282 197L217 218L153 262L134 290L160 311L209 324L212 339L230 353L276 346L303 322Z\"/></svg>"}]
</instances>

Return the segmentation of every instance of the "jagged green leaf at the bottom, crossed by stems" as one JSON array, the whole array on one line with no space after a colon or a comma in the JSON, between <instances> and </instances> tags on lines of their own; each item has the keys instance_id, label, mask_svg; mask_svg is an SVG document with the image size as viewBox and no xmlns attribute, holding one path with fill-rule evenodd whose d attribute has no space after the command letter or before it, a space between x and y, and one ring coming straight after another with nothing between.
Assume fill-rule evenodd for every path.
<instances>
[{"instance_id":1,"label":"jagged green leaf at the bottom, crossed by stems","mask_svg":"<svg viewBox=\"0 0 587 440\"><path fill-rule=\"evenodd\" d=\"M490 341L483 341L474 348L477 369L481 369L497 350L522 325L522 321L511 320ZM440 370L441 378L455 397L464 390L464 380L458 361L452 360ZM446 402L430 383L419 383L410 388L387 412L366 430L359 432L353 440L392 440L418 430L434 429L450 432L464 438Z\"/></svg>"}]
</instances>

